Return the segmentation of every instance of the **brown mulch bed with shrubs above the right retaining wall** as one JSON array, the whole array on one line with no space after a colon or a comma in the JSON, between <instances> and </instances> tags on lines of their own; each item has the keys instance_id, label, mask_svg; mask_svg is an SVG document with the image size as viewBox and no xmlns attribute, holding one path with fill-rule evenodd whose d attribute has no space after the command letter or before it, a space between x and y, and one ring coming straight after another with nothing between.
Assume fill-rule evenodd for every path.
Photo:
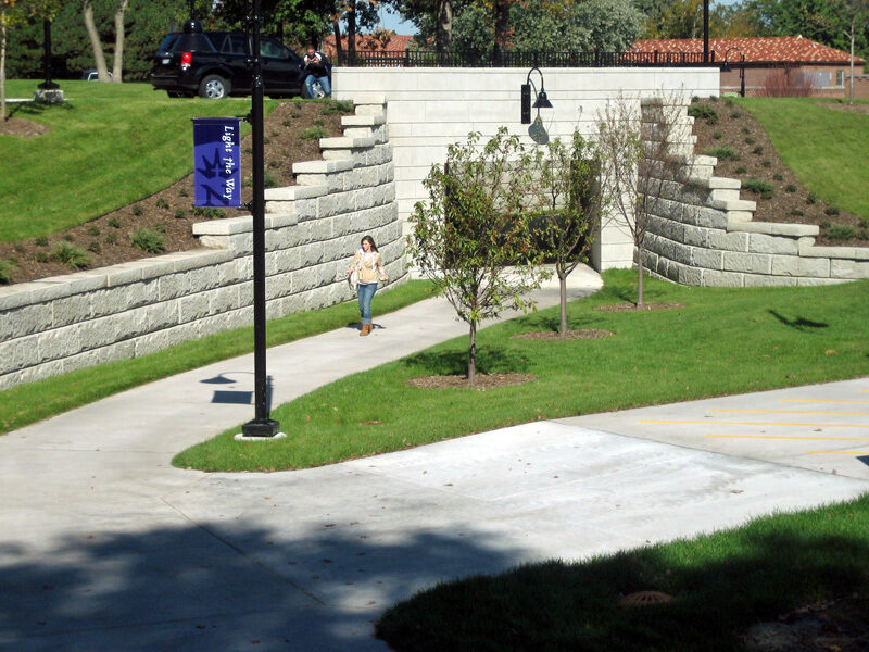
<instances>
[{"instance_id":1,"label":"brown mulch bed with shrubs above the right retaining wall","mask_svg":"<svg viewBox=\"0 0 869 652\"><path fill-rule=\"evenodd\" d=\"M714 121L694 120L694 135L697 137L694 151L704 154L713 148L730 147L736 152L739 160L719 158L714 174L742 181L741 199L757 202L755 222L816 224L821 227L816 244L869 247L869 225L857 215L814 197L804 188L782 162L769 136L751 113L727 99L694 99L693 103L708 104L718 112ZM869 112L868 104L848 106L827 101L823 105L836 111ZM752 178L771 184L772 196L765 198L746 189L745 183ZM830 238L830 229L835 226L852 227L854 237Z\"/></svg>"}]
</instances>

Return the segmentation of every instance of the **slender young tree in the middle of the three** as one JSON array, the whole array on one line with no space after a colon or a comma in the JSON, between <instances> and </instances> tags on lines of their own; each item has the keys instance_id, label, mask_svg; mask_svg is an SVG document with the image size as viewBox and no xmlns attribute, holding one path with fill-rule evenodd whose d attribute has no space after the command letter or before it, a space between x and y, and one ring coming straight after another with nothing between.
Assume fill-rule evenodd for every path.
<instances>
[{"instance_id":1,"label":"slender young tree in the middle of the three","mask_svg":"<svg viewBox=\"0 0 869 652\"><path fill-rule=\"evenodd\" d=\"M562 306L558 331L565 336L567 277L588 260L604 203L597 183L597 151L593 142L575 130L569 143L556 138L538 150L536 163L543 217L536 221L534 230L546 255L555 260Z\"/></svg>"}]
</instances>

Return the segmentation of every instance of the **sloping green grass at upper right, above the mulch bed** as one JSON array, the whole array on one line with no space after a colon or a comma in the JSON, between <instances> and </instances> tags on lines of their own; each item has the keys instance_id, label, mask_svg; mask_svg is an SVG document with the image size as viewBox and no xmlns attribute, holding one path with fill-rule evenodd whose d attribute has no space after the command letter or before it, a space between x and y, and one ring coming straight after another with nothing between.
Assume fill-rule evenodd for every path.
<instances>
[{"instance_id":1,"label":"sloping green grass at upper right, above the mulch bed","mask_svg":"<svg viewBox=\"0 0 869 652\"><path fill-rule=\"evenodd\" d=\"M803 186L830 205L869 218L869 114L828 109L824 103L833 100L817 98L733 101L760 122Z\"/></svg>"}]
</instances>

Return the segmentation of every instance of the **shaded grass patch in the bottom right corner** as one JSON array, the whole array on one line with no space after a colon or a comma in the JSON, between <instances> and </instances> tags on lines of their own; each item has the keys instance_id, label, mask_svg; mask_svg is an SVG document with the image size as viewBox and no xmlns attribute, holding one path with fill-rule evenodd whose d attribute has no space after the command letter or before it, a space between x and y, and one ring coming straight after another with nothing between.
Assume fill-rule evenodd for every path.
<instances>
[{"instance_id":1,"label":"shaded grass patch in the bottom right corner","mask_svg":"<svg viewBox=\"0 0 869 652\"><path fill-rule=\"evenodd\" d=\"M398 652L736 652L755 623L830 599L845 598L824 615L866 631L867 559L864 497L690 541L441 585L389 610L377 634ZM642 590L675 600L619 604L620 593ZM835 636L830 627L821 636ZM828 641L757 649L845 650ZM846 649L867 649L855 642Z\"/></svg>"}]
</instances>

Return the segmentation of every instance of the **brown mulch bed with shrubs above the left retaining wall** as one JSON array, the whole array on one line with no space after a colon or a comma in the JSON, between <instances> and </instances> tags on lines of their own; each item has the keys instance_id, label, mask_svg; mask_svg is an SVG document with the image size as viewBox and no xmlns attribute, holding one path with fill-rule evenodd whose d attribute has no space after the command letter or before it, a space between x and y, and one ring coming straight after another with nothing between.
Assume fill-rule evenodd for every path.
<instances>
[{"instance_id":1,"label":"brown mulch bed with shrubs above the left retaining wall","mask_svg":"<svg viewBox=\"0 0 869 652\"><path fill-rule=\"evenodd\" d=\"M182 101L182 100L179 100ZM300 134L312 126L322 126L330 136L340 136L341 115L323 115L323 103L287 101L278 104L265 118L265 171L268 185L274 187L292 186L295 178L292 164L297 161L320 159L317 139L301 139ZM28 123L23 118L12 118ZM36 124L36 123L30 123ZM191 142L192 148L192 142ZM242 178L251 174L251 136L241 141ZM270 179L269 179L270 176ZM252 188L242 188L242 202L250 201ZM247 215L247 210L226 210L211 215L193 209L193 175L190 174L165 190L141 201L122 206L86 224L73 227L47 238L28 238L17 242L0 242L0 260L14 264L12 283L25 283L49 276L71 274L73 269L52 258L52 251L60 242L66 241L84 250L89 263L87 268L105 267L143 258L151 258L133 246L131 234L139 228L161 233L164 251L190 251L200 247L192 235L192 224L213 216L235 217Z\"/></svg>"}]
</instances>

